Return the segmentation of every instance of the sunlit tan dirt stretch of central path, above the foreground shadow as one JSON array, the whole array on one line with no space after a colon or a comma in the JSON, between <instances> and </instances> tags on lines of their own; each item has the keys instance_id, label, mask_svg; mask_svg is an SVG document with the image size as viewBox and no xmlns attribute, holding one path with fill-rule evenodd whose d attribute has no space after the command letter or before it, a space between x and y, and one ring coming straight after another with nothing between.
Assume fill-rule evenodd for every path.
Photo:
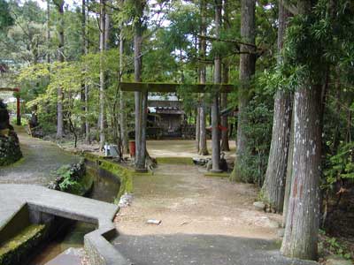
<instances>
[{"instance_id":1,"label":"sunlit tan dirt stretch of central path, above the foreground shadow","mask_svg":"<svg viewBox=\"0 0 354 265\"><path fill-rule=\"evenodd\" d=\"M196 166L159 165L153 176L134 178L135 199L116 218L129 235L205 234L275 239L280 216L259 212L258 191L227 179L205 178ZM162 220L150 225L148 219Z\"/></svg>"}]
</instances>

